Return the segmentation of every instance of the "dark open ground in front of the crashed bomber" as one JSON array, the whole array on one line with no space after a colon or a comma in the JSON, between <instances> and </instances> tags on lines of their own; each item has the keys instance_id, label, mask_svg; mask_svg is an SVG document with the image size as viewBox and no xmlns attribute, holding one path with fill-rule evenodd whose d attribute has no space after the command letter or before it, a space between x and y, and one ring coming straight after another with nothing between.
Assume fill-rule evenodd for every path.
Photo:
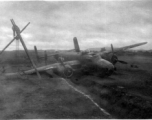
<instances>
[{"instance_id":1,"label":"dark open ground in front of the crashed bomber","mask_svg":"<svg viewBox=\"0 0 152 120\"><path fill-rule=\"evenodd\" d=\"M79 78L79 84L67 79L76 89L62 78L46 75L42 80L36 75L1 75L1 119L152 118L152 57L125 55L119 59L130 64L118 63L110 77L85 75ZM138 68L131 68L131 64ZM17 69L11 67L12 61L3 65L8 67L6 72Z\"/></svg>"}]
</instances>

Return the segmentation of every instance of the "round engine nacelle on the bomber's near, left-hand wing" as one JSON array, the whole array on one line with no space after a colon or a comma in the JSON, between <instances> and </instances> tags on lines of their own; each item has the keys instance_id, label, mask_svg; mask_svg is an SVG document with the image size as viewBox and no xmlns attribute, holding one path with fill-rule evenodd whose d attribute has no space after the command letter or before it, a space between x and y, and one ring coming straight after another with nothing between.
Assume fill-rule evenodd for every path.
<instances>
[{"instance_id":1,"label":"round engine nacelle on the bomber's near, left-hand wing","mask_svg":"<svg viewBox=\"0 0 152 120\"><path fill-rule=\"evenodd\" d=\"M73 69L70 65L59 65L53 72L57 75L61 75L63 77L69 78L73 75Z\"/></svg>"}]
</instances>

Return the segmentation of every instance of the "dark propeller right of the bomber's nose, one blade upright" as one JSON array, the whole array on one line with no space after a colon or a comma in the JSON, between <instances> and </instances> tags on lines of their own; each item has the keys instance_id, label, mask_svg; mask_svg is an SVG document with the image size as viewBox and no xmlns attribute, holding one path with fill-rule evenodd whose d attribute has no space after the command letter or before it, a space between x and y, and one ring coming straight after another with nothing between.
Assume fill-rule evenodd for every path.
<instances>
[{"instance_id":1,"label":"dark propeller right of the bomber's nose, one blade upright","mask_svg":"<svg viewBox=\"0 0 152 120\"><path fill-rule=\"evenodd\" d=\"M111 51L112 51L111 61L113 64L116 64L117 62L122 64L128 64L127 62L118 59L118 57L114 54L114 48L112 44L111 44Z\"/></svg>"}]
</instances>

